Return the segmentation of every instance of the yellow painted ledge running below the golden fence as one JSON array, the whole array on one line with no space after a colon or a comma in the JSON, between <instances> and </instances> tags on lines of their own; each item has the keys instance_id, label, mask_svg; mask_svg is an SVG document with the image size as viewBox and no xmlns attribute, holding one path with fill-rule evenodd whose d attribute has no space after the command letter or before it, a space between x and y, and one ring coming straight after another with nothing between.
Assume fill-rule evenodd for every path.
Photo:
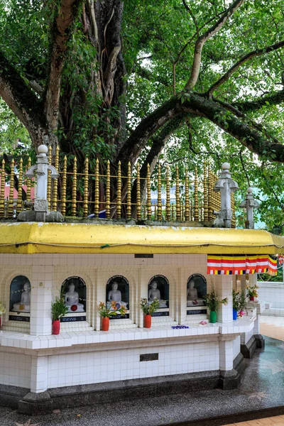
<instances>
[{"instance_id":1,"label":"yellow painted ledge running below the golden fence","mask_svg":"<svg viewBox=\"0 0 284 426\"><path fill-rule=\"evenodd\" d=\"M0 223L0 253L284 253L284 237L253 229Z\"/></svg>"}]
</instances>

